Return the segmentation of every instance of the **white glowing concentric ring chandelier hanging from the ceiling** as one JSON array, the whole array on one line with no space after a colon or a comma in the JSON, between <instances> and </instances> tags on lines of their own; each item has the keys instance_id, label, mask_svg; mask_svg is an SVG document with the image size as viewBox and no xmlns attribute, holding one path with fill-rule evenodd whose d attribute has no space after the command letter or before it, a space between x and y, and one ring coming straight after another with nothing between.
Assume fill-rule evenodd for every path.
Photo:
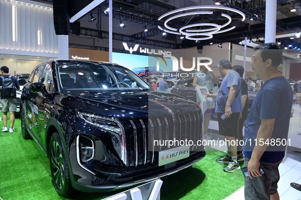
<instances>
[{"instance_id":1,"label":"white glowing concentric ring chandelier hanging from the ceiling","mask_svg":"<svg viewBox=\"0 0 301 200\"><path fill-rule=\"evenodd\" d=\"M242 16L241 21L245 20L245 15L244 15L243 12L241 12L239 10L236 10L234 8L227 8L227 7L223 7L223 6L191 6L191 7L186 7L186 8L180 8L180 9L168 12L168 13L160 16L158 18L158 20L161 20L163 18L166 18L170 15L173 15L173 14L176 14L176 13L179 13L179 12L195 10L195 9L227 10L227 11L235 12L235 13L241 15ZM183 26L179 29L171 27L171 26L168 25L168 22L170 22L171 20L175 20L179 17L189 16L189 15L212 15L212 14L213 14L212 11L196 11L196 12L177 14L177 15L174 15L172 17L167 18L164 21L164 27L161 27L160 25L158 25L158 28L160 30L168 32L170 34L183 35L188 40L208 40L208 39L213 38L214 34L221 34L222 32L227 32L227 31L233 30L236 27L236 26L232 26L230 28L224 29L232 21L232 18L229 15L224 14L224 13L222 13L221 16L227 18L228 21L223 25L219 25L219 24L215 24L215 23L196 23L196 24L185 25L185 26ZM191 27L203 27L203 26L209 26L209 28L206 28L206 29L188 29L188 28L191 28Z\"/></svg>"}]
</instances>

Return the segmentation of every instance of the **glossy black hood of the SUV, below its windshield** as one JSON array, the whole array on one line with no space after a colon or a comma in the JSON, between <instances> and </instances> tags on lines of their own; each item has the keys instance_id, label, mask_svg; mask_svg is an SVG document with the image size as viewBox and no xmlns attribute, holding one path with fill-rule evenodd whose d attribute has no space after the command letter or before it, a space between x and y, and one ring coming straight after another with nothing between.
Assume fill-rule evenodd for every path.
<instances>
[{"instance_id":1,"label":"glossy black hood of the SUV, below its windshield","mask_svg":"<svg viewBox=\"0 0 301 200\"><path fill-rule=\"evenodd\" d=\"M156 91L77 92L60 94L60 104L108 117L158 117L200 111L189 99Z\"/></svg>"}]
</instances>

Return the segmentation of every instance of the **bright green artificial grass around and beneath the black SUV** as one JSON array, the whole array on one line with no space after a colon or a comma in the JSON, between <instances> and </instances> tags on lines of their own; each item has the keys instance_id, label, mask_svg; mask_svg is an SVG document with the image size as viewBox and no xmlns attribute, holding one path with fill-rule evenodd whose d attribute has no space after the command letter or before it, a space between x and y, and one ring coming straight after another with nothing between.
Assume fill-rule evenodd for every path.
<instances>
[{"instance_id":1,"label":"bright green artificial grass around and beneath the black SUV","mask_svg":"<svg viewBox=\"0 0 301 200\"><path fill-rule=\"evenodd\" d=\"M3 121L0 121L2 127ZM0 132L0 197L4 200L62 199L52 186L48 158L33 140L23 140L19 119L15 129L13 134ZM225 165L215 161L224 154L207 151L206 157L190 168L161 178L161 199L217 200L239 189L243 186L241 171L223 172ZM102 199L119 192L76 191L71 198Z\"/></svg>"}]
</instances>

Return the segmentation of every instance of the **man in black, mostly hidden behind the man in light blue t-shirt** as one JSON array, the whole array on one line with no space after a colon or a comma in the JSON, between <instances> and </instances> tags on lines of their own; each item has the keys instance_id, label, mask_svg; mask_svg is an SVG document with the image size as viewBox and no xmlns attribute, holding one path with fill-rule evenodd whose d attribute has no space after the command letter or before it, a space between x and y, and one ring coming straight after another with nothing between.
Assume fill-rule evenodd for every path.
<instances>
[{"instance_id":1,"label":"man in black, mostly hidden behind the man in light blue t-shirt","mask_svg":"<svg viewBox=\"0 0 301 200\"><path fill-rule=\"evenodd\" d=\"M241 106L242 106L242 113L241 113L241 118L239 118L239 123L238 123L238 136L237 139L238 141L243 140L242 137L242 128L245 120L248 118L248 85L247 82L242 78L244 69L240 65L234 65L232 66L232 69L236 71L241 80ZM237 160L243 160L243 155L242 155L242 147L238 145L237 147Z\"/></svg>"}]
</instances>

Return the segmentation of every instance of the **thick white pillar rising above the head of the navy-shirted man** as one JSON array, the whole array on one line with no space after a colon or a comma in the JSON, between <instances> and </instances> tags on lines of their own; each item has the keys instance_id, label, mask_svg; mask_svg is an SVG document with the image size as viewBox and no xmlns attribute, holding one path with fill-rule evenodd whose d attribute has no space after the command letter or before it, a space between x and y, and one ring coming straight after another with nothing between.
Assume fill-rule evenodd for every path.
<instances>
[{"instance_id":1,"label":"thick white pillar rising above the head of the navy-shirted man","mask_svg":"<svg viewBox=\"0 0 301 200\"><path fill-rule=\"evenodd\" d=\"M265 3L265 43L276 42L277 1Z\"/></svg>"}]
</instances>

